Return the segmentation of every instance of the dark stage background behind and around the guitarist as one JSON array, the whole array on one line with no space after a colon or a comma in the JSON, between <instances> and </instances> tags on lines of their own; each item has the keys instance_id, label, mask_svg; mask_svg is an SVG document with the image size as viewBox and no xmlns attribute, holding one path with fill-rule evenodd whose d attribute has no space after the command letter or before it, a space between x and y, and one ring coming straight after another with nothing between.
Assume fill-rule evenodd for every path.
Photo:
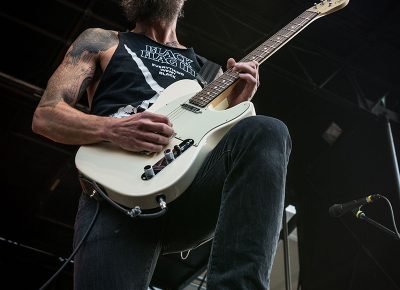
<instances>
[{"instance_id":1,"label":"dark stage background behind and around the guitarist","mask_svg":"<svg viewBox=\"0 0 400 290\"><path fill-rule=\"evenodd\" d=\"M399 242L351 213L328 214L334 203L379 193L391 201L399 221L384 117L399 155L399 3L351 0L311 23L261 66L256 110L283 120L293 139L287 200L298 213L302 289L400 289ZM228 57L239 60L312 5L189 0L178 34L184 45L225 66ZM114 0L7 1L1 5L0 27L0 270L12 289L35 289L58 269L60 257L71 253L80 189L77 147L34 135L33 110L80 32L130 27ZM327 139L333 124L340 134ZM384 200L364 212L393 229ZM166 269L174 269L173 282L183 283L204 266L207 251L179 264L164 257L160 273L168 277ZM67 267L54 289L70 285Z\"/></svg>"}]
</instances>

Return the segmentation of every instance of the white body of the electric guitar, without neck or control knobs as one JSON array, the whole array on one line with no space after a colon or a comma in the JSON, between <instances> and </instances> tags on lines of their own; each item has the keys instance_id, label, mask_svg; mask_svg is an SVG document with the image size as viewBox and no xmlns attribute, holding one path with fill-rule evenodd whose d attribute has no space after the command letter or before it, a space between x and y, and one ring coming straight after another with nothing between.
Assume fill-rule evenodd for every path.
<instances>
[{"instance_id":1,"label":"white body of the electric guitar, without neck or control knobs","mask_svg":"<svg viewBox=\"0 0 400 290\"><path fill-rule=\"evenodd\" d=\"M126 207L159 207L157 196L167 202L180 196L193 181L208 153L226 131L239 120L254 115L251 102L216 110L212 105L192 112L181 107L201 90L197 81L181 80L165 89L149 111L168 116L176 135L166 149L185 140L192 145L150 179L143 179L144 167L164 160L164 153L134 153L111 143L81 146L75 164L81 174L101 185L107 195ZM157 166L155 166L157 167Z\"/></svg>"}]
</instances>

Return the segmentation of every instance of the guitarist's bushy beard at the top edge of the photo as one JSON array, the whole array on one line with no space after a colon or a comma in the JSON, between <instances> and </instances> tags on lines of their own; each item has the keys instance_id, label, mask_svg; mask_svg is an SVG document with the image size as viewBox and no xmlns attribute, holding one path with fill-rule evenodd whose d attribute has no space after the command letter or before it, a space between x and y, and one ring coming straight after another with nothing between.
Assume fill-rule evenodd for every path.
<instances>
[{"instance_id":1,"label":"guitarist's bushy beard at the top edge of the photo","mask_svg":"<svg viewBox=\"0 0 400 290\"><path fill-rule=\"evenodd\" d=\"M121 6L128 20L132 22L166 21L182 17L182 7L186 0L122 0Z\"/></svg>"}]
</instances>

